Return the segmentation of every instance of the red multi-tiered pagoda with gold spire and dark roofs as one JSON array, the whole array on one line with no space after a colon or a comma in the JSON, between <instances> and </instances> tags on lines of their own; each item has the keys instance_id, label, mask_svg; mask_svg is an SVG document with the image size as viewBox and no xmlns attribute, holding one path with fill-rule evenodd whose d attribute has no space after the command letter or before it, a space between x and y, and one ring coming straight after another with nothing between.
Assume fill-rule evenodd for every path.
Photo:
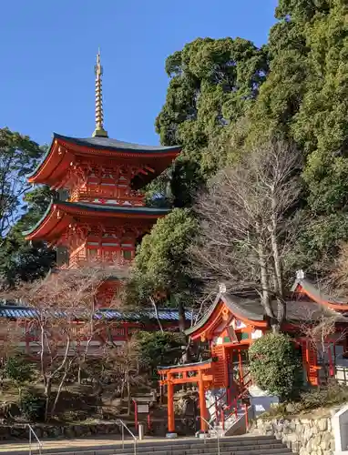
<instances>
[{"instance_id":1,"label":"red multi-tiered pagoda with gold spire and dark roofs","mask_svg":"<svg viewBox=\"0 0 348 455\"><path fill-rule=\"evenodd\" d=\"M102 66L96 66L96 129L92 137L54 134L28 181L46 184L67 200L54 200L28 240L67 249L60 268L89 260L127 266L142 236L169 210L145 207L140 189L169 167L179 147L149 147L111 139L103 126ZM64 191L65 190L65 191ZM62 199L62 197L60 197ZM64 198L63 198L64 199Z\"/></svg>"}]
</instances>

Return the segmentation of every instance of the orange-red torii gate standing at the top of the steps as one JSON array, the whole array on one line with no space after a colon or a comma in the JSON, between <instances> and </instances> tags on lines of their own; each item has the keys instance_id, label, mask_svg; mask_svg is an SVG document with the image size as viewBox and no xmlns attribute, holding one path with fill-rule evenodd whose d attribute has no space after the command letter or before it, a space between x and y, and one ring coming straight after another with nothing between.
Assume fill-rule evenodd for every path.
<instances>
[{"instance_id":1,"label":"orange-red torii gate standing at the top of the steps","mask_svg":"<svg viewBox=\"0 0 348 455\"><path fill-rule=\"evenodd\" d=\"M175 433L174 416L174 386L176 384L196 383L200 394L200 430L207 429L207 407L205 401L205 390L210 389L213 382L212 361L207 360L200 363L186 365L173 365L170 367L159 367L159 384L167 386L168 390L168 431Z\"/></svg>"}]
</instances>

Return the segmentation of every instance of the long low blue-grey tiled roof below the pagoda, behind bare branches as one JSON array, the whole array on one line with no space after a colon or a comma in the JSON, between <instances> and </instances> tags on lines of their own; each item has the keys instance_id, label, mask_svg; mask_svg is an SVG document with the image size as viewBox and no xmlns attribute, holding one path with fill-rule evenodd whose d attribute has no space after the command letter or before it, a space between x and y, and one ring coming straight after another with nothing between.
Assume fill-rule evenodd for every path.
<instances>
[{"instance_id":1,"label":"long low blue-grey tiled roof below the pagoda, behind bare branches","mask_svg":"<svg viewBox=\"0 0 348 455\"><path fill-rule=\"evenodd\" d=\"M54 311L53 314L56 316L64 316L62 311ZM0 306L0 318L5 319L33 319L36 318L38 311L36 308L16 305L2 305ZM83 317L83 312L77 315ZM191 311L185 312L185 318L190 320L192 317ZM119 311L110 308L100 308L95 313L95 319L107 319L107 320L120 320L120 321L135 321L143 322L146 320L156 320L157 316L155 311L152 309L143 309L139 311ZM159 319L162 321L178 321L179 311L172 308L159 309Z\"/></svg>"}]
</instances>

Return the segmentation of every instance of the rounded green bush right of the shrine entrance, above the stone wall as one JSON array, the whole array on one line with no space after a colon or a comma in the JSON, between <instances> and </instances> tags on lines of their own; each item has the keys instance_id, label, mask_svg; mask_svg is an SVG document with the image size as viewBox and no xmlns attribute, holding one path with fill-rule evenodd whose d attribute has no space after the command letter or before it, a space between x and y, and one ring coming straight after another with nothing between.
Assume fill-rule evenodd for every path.
<instances>
[{"instance_id":1,"label":"rounded green bush right of the shrine entrance, above the stone wall","mask_svg":"<svg viewBox=\"0 0 348 455\"><path fill-rule=\"evenodd\" d=\"M261 389L280 399L289 399L300 391L302 365L292 340L282 333L268 333L249 349L251 375Z\"/></svg>"}]
</instances>

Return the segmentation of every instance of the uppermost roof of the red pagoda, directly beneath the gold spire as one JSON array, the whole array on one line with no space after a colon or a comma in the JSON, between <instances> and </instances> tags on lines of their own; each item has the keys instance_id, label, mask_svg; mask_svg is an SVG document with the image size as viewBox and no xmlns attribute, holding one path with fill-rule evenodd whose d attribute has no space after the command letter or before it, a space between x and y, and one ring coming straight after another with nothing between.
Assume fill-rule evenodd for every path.
<instances>
[{"instance_id":1,"label":"uppermost roof of the red pagoda, directly beneath the gold spire","mask_svg":"<svg viewBox=\"0 0 348 455\"><path fill-rule=\"evenodd\" d=\"M105 159L109 162L134 163L139 167L150 167L150 175L144 180L158 176L178 157L179 146L141 146L109 137L77 138L54 133L51 146L36 169L28 176L30 183L45 183L53 187L63 180L68 167L77 157Z\"/></svg>"}]
</instances>

